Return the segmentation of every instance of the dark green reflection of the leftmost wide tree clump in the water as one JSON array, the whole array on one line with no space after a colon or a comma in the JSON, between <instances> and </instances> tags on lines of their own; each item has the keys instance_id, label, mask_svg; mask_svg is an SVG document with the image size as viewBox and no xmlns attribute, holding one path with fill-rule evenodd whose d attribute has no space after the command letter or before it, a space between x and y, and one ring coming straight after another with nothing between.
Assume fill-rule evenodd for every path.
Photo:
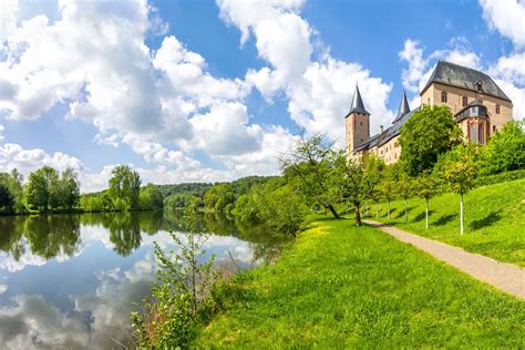
<instances>
[{"instance_id":1,"label":"dark green reflection of the leftmost wide tree clump in the water","mask_svg":"<svg viewBox=\"0 0 525 350\"><path fill-rule=\"evenodd\" d=\"M80 246L78 215L38 215L24 217L23 233L31 251L45 259L72 256Z\"/></svg>"}]
</instances>

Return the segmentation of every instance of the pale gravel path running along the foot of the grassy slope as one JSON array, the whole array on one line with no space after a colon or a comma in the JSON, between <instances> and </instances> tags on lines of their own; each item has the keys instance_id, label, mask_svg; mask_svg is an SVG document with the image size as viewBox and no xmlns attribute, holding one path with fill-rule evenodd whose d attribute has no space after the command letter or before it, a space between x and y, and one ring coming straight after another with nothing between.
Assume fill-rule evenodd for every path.
<instances>
[{"instance_id":1,"label":"pale gravel path running along the foot of the grassy slope","mask_svg":"<svg viewBox=\"0 0 525 350\"><path fill-rule=\"evenodd\" d=\"M445 245L429 238L409 234L402 229L374 220L363 220L401 241L429 253L472 277L496 287L505 292L525 299L525 269L512 264L498 262L480 254L467 253L461 248Z\"/></svg>"}]
</instances>

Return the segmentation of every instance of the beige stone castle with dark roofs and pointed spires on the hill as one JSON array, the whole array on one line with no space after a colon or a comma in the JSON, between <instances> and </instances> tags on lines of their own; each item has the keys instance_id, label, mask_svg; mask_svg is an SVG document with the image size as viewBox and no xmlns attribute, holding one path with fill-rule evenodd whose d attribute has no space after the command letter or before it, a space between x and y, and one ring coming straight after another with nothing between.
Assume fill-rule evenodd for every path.
<instances>
[{"instance_id":1,"label":"beige stone castle with dark roofs and pointed spires on the hill","mask_svg":"<svg viewBox=\"0 0 525 350\"><path fill-rule=\"evenodd\" d=\"M483 72L459 64L437 62L420 93L422 105L447 106L463 133L465 142L484 144L513 117L511 99ZM399 133L404 123L420 107L410 110L403 91L398 114L392 125L370 136L370 113L356 86L352 106L346 115L346 145L349 157L375 154L387 164L401 155Z\"/></svg>"}]
</instances>

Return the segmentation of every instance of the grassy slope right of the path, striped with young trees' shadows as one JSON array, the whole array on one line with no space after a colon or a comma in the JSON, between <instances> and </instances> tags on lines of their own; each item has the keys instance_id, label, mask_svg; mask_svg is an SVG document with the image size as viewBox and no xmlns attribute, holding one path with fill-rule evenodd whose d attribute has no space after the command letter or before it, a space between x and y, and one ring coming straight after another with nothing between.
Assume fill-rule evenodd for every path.
<instances>
[{"instance_id":1,"label":"grassy slope right of the path, striped with young trees' shadows","mask_svg":"<svg viewBox=\"0 0 525 350\"><path fill-rule=\"evenodd\" d=\"M460 195L445 194L430 200L430 227L424 227L424 200L409 199L380 206L380 220L408 231L460 246L467 251L525 267L525 179L476 188L465 196L465 234L460 235ZM370 212L375 218L375 207Z\"/></svg>"}]
</instances>

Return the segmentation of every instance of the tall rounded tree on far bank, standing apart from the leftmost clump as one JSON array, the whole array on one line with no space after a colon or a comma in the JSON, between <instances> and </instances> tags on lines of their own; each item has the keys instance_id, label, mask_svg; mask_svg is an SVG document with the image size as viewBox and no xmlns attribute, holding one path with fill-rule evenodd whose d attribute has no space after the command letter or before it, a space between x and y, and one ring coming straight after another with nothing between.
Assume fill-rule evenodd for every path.
<instances>
[{"instance_id":1,"label":"tall rounded tree on far bank, standing apart from the leftmost clump","mask_svg":"<svg viewBox=\"0 0 525 350\"><path fill-rule=\"evenodd\" d=\"M133 210L138 208L141 176L127 165L117 165L111 172L110 195L115 209Z\"/></svg>"}]
</instances>

